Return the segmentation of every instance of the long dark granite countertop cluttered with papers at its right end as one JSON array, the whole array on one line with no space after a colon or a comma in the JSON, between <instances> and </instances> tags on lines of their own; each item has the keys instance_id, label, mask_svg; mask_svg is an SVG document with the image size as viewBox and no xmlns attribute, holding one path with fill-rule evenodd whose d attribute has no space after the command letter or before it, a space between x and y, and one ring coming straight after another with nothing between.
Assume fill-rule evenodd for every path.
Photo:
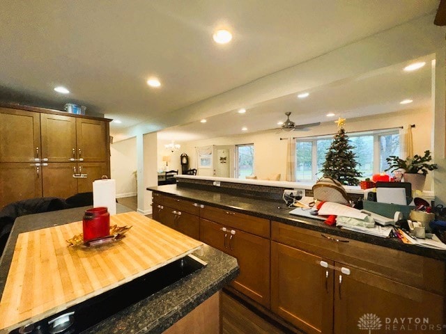
<instances>
[{"instance_id":1,"label":"long dark granite countertop cluttered with papers at its right end","mask_svg":"<svg viewBox=\"0 0 446 334\"><path fill-rule=\"evenodd\" d=\"M233 196L227 193L219 193L217 191L206 191L203 189L194 189L188 186L177 186L176 184L148 187L147 190L159 191L160 193L193 200L199 202L200 204L213 205L223 209L231 209L235 212L267 218L272 221L279 221L280 223L298 226L299 228L307 228L309 230L325 232L337 235L338 237L394 248L407 253L431 257L437 260L446 260L446 250L407 245L403 244L403 242L399 239L374 237L369 234L343 230L335 226L325 225L323 221L319 221L318 219L292 216L289 214L291 209L286 207L283 201L278 202L268 199L263 200L261 198Z\"/></svg>"}]
</instances>

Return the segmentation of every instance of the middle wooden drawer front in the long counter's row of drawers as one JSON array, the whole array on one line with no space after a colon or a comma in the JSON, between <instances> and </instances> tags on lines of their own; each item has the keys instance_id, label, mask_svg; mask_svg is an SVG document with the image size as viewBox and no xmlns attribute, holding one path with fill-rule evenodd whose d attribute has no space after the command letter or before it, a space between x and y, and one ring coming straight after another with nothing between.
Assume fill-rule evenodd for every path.
<instances>
[{"instance_id":1,"label":"middle wooden drawer front in the long counter's row of drawers","mask_svg":"<svg viewBox=\"0 0 446 334\"><path fill-rule=\"evenodd\" d=\"M260 237L270 237L270 221L265 218L240 214L239 212L210 207L209 205L204 205L200 209L200 216L210 221L222 223L226 227L237 228Z\"/></svg>"}]
</instances>

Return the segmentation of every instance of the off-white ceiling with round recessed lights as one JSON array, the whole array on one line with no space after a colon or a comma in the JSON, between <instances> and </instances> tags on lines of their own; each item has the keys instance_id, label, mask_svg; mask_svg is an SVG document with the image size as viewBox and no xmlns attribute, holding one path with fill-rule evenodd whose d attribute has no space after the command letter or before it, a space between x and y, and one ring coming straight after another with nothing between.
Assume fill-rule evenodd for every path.
<instances>
[{"instance_id":1,"label":"off-white ceiling with round recessed lights","mask_svg":"<svg viewBox=\"0 0 446 334\"><path fill-rule=\"evenodd\" d=\"M247 86L260 87L266 77L280 76L296 65L311 63L353 43L360 47L362 40L373 42L377 33L396 31L406 22L428 17L424 26L433 26L432 15L438 3L439 0L2 1L0 98L56 109L68 102L82 104L87 106L87 113L104 113L108 118L122 120L121 125L112 123L111 133L125 138L138 131L151 132L205 116L233 113L233 108L226 107L228 100L232 99L232 106L255 101L232 97L237 91L241 95ZM213 42L211 36L217 28L233 32L229 45ZM422 36L430 33L415 30ZM406 49L403 40L394 40L394 44L401 42L397 46L401 54ZM429 42L429 38L421 38L417 43ZM390 49L395 45L381 47ZM348 61L359 68L362 58L376 56L374 52L378 50L364 49L361 54L352 54ZM409 59L412 54L412 58L420 58L427 53L410 49L406 54ZM382 58L392 56L383 54ZM217 116L221 118L216 118L215 124L226 122L236 130L243 124L249 131L256 131L265 124L270 126L268 115L277 122L284 119L281 115L285 111L292 111L291 119L297 123L304 120L304 114L311 115L305 118L309 122L328 109L357 116L382 111L397 100L397 95L417 95L415 103L422 104L428 98L424 90L410 90L414 85L405 85L407 80L401 73L392 76L392 71L398 74L395 72L399 70L373 74L371 79L364 74L352 76L320 87L316 87L319 81L310 82L311 76L302 75L299 79L307 84L305 88L312 88L307 100L286 96L293 92L270 92L270 96L283 97L247 106L258 109L256 122L228 123L228 115L224 115ZM427 72L419 72L423 84L415 86L426 87ZM146 85L153 75L160 78L161 88ZM383 80L392 89L378 84ZM71 93L54 92L54 86L59 85ZM367 86L369 92L364 90ZM406 86L410 87L405 92ZM255 95L256 90L250 93ZM260 88L257 93L261 95ZM199 104L201 107L194 109ZM210 107L204 108L206 105ZM248 111L243 117L249 114ZM210 120L206 123L209 127ZM197 125L201 124L191 125L192 131L203 131Z\"/></svg>"}]
</instances>

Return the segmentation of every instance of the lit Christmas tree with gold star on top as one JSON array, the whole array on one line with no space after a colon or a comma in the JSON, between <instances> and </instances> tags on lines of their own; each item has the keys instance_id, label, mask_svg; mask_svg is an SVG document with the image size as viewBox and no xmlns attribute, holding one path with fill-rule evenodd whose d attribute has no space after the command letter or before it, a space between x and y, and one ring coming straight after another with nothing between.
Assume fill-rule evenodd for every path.
<instances>
[{"instance_id":1,"label":"lit Christmas tree with gold star on top","mask_svg":"<svg viewBox=\"0 0 446 334\"><path fill-rule=\"evenodd\" d=\"M341 184L356 186L359 183L357 177L362 175L356 170L356 156L344 130L345 122L345 118L339 118L336 121L339 130L334 135L332 145L325 154L325 162L322 165L321 172L323 176L330 176Z\"/></svg>"}]
</instances>

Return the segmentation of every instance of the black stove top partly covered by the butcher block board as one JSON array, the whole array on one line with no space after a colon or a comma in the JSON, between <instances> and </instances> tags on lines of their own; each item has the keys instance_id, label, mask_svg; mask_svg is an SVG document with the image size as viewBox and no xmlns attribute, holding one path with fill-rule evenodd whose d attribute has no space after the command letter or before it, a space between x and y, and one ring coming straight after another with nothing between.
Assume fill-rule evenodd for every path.
<instances>
[{"instance_id":1,"label":"black stove top partly covered by the butcher block board","mask_svg":"<svg viewBox=\"0 0 446 334\"><path fill-rule=\"evenodd\" d=\"M146 299L164 287L172 285L190 273L205 267L206 264L190 256L171 262L129 283L109 290L63 312L37 321L10 333L20 334L78 334L114 315L128 306Z\"/></svg>"}]
</instances>

